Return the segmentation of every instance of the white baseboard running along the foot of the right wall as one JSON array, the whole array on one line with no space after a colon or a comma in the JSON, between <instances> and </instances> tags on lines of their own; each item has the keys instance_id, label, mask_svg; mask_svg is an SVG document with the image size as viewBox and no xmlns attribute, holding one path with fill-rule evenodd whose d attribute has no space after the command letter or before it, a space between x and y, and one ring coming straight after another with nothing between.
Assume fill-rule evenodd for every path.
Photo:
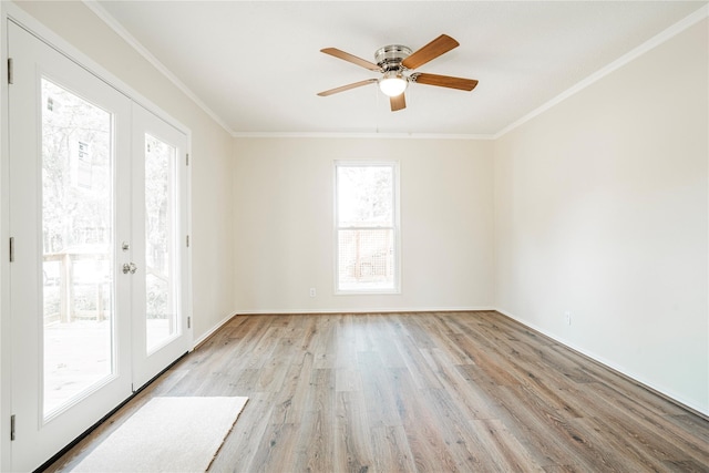
<instances>
[{"instance_id":1,"label":"white baseboard running along the foot of the right wall","mask_svg":"<svg viewBox=\"0 0 709 473\"><path fill-rule=\"evenodd\" d=\"M535 332L542 335L543 337L546 337L553 341L555 341L556 343L559 343L562 346L564 346L565 348L574 351L575 353L578 353L579 356L586 358L587 360L599 364L610 371L613 371L614 373L618 374L619 377L641 387L643 389L646 389L647 391L651 392L655 395L659 395L662 399L666 399L667 401L674 403L675 405L695 414L695 415L699 415L702 419L709 420L709 411L703 411L700 407L698 405L693 405L692 402L688 402L687 400L684 400L681 397L676 395L674 393L670 392L670 390L666 390L662 389L660 387L655 385L651 382L648 382L647 380L644 380L643 377L639 377L637 374L634 374L631 372L628 372L626 369L624 369L623 367L619 367L608 360L606 360L603 357L597 356L594 352L590 352L588 350L585 350L580 347L575 346L574 343L568 342L567 340L561 339L559 337L557 337L554 333L548 332L547 330L542 329L541 327L535 326L534 323L531 323L526 320L524 320L521 317L516 317L505 310L502 310L500 308L495 308L492 309L495 312L499 312L500 315L507 317L521 325L523 325L524 327L528 328L530 330L534 330Z\"/></svg>"}]
</instances>

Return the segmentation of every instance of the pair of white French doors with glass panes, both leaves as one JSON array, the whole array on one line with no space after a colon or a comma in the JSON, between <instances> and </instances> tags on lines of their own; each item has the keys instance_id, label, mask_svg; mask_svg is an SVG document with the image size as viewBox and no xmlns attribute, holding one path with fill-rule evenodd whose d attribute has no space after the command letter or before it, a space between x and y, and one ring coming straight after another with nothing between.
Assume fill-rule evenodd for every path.
<instances>
[{"instance_id":1,"label":"pair of white French doors with glass panes, both leaves","mask_svg":"<svg viewBox=\"0 0 709 473\"><path fill-rule=\"evenodd\" d=\"M8 23L12 469L187 351L185 135Z\"/></svg>"}]
</instances>

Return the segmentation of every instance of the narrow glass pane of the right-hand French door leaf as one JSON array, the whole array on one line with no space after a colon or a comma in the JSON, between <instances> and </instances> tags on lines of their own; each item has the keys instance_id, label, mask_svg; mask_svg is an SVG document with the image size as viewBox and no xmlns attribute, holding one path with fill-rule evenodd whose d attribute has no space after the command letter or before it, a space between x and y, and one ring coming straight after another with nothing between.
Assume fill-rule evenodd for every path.
<instances>
[{"instance_id":1,"label":"narrow glass pane of the right-hand French door leaf","mask_svg":"<svg viewBox=\"0 0 709 473\"><path fill-rule=\"evenodd\" d=\"M177 333L175 277L177 150L145 135L145 340L147 352Z\"/></svg>"}]
</instances>

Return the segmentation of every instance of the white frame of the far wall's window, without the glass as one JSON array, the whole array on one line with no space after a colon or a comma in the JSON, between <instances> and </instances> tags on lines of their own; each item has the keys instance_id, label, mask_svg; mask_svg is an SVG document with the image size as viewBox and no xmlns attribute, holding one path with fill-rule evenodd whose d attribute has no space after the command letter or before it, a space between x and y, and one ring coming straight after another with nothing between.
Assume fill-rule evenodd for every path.
<instances>
[{"instance_id":1,"label":"white frame of the far wall's window, without the glass","mask_svg":"<svg viewBox=\"0 0 709 473\"><path fill-rule=\"evenodd\" d=\"M339 210L338 210L338 169L340 167L389 167L392 171L392 226L340 226ZM399 295L401 294L401 207L400 207L400 163L399 161L387 160L336 160L332 165L332 240L333 240L333 288L336 296L342 295ZM358 288L358 289L342 289L340 288L340 258L339 258L339 233L340 230L357 230L357 229L391 229L393 233L393 285L391 288Z\"/></svg>"}]
</instances>

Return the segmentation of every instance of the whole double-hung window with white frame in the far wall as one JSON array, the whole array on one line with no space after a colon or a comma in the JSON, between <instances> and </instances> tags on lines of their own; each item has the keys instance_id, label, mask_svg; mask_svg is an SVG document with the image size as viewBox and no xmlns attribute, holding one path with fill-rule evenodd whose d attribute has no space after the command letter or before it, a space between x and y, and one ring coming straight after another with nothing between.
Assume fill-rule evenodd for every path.
<instances>
[{"instance_id":1,"label":"whole double-hung window with white frame in the far wall","mask_svg":"<svg viewBox=\"0 0 709 473\"><path fill-rule=\"evenodd\" d=\"M398 164L335 163L336 292L399 292Z\"/></svg>"}]
</instances>

